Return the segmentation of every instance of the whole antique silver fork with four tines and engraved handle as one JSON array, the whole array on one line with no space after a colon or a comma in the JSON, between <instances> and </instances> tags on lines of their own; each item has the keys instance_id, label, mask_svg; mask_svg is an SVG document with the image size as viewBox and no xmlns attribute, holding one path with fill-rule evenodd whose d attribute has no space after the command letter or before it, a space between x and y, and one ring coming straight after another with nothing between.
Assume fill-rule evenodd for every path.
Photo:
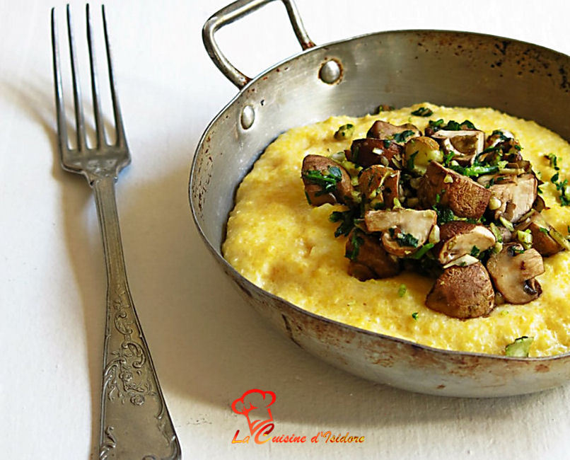
<instances>
[{"instance_id":1,"label":"whole antique silver fork with four tines and engraved handle","mask_svg":"<svg viewBox=\"0 0 570 460\"><path fill-rule=\"evenodd\" d=\"M180 443L174 431L161 386L151 360L149 347L136 316L127 284L121 245L115 181L131 157L117 100L105 7L101 8L107 52L107 68L117 140L108 144L95 69L95 51L91 13L86 6L87 44L91 69L91 93L95 115L95 147L87 144L74 33L69 5L67 32L71 58L76 125L76 148L68 144L62 91L59 44L54 8L52 8L52 50L54 65L57 132L62 167L83 174L95 190L97 214L103 235L107 267L107 321L103 350L103 390L101 395L100 459L180 459Z\"/></svg>"}]
</instances>

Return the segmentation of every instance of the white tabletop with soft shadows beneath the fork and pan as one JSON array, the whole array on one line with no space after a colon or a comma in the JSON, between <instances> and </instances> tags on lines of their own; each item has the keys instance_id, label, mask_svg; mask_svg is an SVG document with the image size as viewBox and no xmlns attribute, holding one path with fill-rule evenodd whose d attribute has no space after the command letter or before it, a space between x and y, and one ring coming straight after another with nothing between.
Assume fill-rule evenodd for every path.
<instances>
[{"instance_id":1,"label":"white tabletop with soft shadows beneath the fork and pan","mask_svg":"<svg viewBox=\"0 0 570 460\"><path fill-rule=\"evenodd\" d=\"M570 54L570 5L563 0L297 3L317 44L376 30L441 28ZM187 179L200 134L236 93L201 40L202 24L225 4L107 2L133 156L117 188L127 271L185 459L568 458L570 387L464 400L371 384L267 328L221 275L194 230ZM98 442L105 271L91 190L57 163L51 6L0 1L3 459L95 459ZM63 4L57 6L63 30ZM83 8L72 6L79 28ZM219 42L250 75L298 51L279 2L222 30ZM230 404L251 388L277 393L275 433L332 430L366 441L231 444L246 425Z\"/></svg>"}]
</instances>

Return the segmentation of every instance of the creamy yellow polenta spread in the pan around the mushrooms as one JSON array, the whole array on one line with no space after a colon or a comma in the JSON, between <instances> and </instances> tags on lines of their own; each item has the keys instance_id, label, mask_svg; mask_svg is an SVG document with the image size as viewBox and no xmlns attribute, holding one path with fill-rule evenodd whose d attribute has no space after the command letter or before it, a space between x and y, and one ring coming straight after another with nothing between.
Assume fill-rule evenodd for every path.
<instances>
[{"instance_id":1,"label":"creamy yellow polenta spread in the pan around the mushrooms","mask_svg":"<svg viewBox=\"0 0 570 460\"><path fill-rule=\"evenodd\" d=\"M426 106L431 117L411 115ZM542 212L563 234L570 223L570 207L561 207L549 178L553 168L544 155L559 156L561 178L570 178L570 145L532 121L520 120L491 108L448 108L429 103L366 115L331 117L296 127L269 145L241 183L235 208L228 220L223 255L248 280L303 309L342 323L446 350L504 354L514 339L534 337L530 356L570 351L570 253L545 258L544 275L538 277L542 296L525 305L497 306L487 318L467 321L450 318L424 306L433 279L402 272L385 280L360 282L347 274L346 238L334 237L337 224L329 221L340 205L308 205L301 182L301 163L308 154L330 155L349 148L351 139L337 141L340 125L355 126L352 139L366 137L376 120L395 125L412 122L424 130L428 120L471 120L490 134L513 132L523 146L523 156L533 163L550 209ZM400 297L401 284L407 290ZM412 314L417 312L417 319Z\"/></svg>"}]
</instances>

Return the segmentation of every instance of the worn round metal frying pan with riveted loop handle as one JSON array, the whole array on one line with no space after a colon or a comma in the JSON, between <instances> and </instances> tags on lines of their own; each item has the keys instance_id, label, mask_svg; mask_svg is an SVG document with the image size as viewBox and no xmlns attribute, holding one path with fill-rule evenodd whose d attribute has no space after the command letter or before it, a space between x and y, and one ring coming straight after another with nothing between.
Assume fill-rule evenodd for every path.
<instances>
[{"instance_id":1,"label":"worn round metal frying pan with riveted loop handle","mask_svg":"<svg viewBox=\"0 0 570 460\"><path fill-rule=\"evenodd\" d=\"M567 381L569 353L521 359L438 350L312 314L246 280L223 259L221 244L240 181L264 148L294 126L364 115L379 103L429 100L490 106L570 139L570 57L507 38L440 30L372 33L316 46L293 0L281 0L303 51L251 79L223 56L214 35L270 1L235 1L203 29L211 59L239 89L204 132L190 173L194 222L226 275L296 345L372 381L467 397L531 393Z\"/></svg>"}]
</instances>

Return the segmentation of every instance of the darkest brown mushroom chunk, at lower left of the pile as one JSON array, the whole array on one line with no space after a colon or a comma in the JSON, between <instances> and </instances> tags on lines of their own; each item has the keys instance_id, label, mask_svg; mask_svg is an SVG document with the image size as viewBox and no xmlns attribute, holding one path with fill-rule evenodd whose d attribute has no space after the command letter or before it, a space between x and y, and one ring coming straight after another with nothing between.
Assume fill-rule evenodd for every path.
<instances>
[{"instance_id":1,"label":"darkest brown mushroom chunk, at lower left of the pile","mask_svg":"<svg viewBox=\"0 0 570 460\"><path fill-rule=\"evenodd\" d=\"M384 250L378 237L352 230L346 250L349 275L361 281L388 278L400 272L400 261Z\"/></svg>"}]
</instances>

